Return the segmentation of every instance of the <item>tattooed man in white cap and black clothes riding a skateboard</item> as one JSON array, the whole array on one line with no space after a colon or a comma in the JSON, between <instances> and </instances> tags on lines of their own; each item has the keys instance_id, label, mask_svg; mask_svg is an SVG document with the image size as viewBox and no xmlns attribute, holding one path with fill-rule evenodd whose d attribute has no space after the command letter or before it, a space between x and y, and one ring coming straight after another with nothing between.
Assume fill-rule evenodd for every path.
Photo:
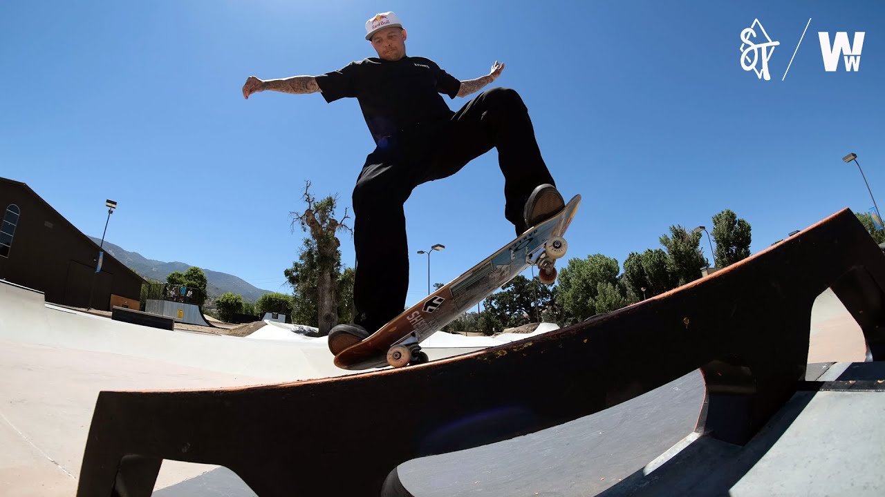
<instances>
[{"instance_id":1,"label":"tattooed man in white cap and black clothes riding a skateboard","mask_svg":"<svg viewBox=\"0 0 885 497\"><path fill-rule=\"evenodd\" d=\"M505 181L504 217L517 234L564 205L516 91L483 91L457 112L441 96L476 93L501 75L504 64L496 61L488 75L459 81L434 61L405 54L406 31L394 12L367 20L366 40L378 57L319 76L250 76L242 87L247 99L265 90L319 92L329 103L356 97L375 141L352 198L357 316L353 324L337 325L329 333L329 349L335 354L366 339L405 308L409 251L403 205L414 187L446 178L496 148Z\"/></svg>"}]
</instances>

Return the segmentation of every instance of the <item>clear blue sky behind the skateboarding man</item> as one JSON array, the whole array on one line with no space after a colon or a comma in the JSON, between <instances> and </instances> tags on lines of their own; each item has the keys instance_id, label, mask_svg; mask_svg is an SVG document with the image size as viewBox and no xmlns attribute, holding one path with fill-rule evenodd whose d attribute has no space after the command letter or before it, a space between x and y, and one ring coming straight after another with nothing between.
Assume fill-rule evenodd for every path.
<instances>
[{"instance_id":1,"label":"clear blue sky behind the skateboarding man","mask_svg":"<svg viewBox=\"0 0 885 497\"><path fill-rule=\"evenodd\" d=\"M289 211L304 209L304 181L339 195L343 214L373 141L353 99L246 101L240 88L373 56L363 26L389 10L409 55L460 80L505 63L494 86L519 91L558 187L583 195L570 257L623 264L660 248L668 226L712 229L724 209L750 222L758 252L872 206L849 152L885 195L885 4L874 1L5 2L0 176L84 233L101 236L110 198L108 241L289 291L282 271L304 238ZM754 19L781 42L771 80L741 67ZM837 31L866 32L856 73L824 71L818 32ZM503 187L493 150L413 192L410 304L427 293L417 250L446 246L431 279L447 282L512 239ZM353 264L346 233L342 255Z\"/></svg>"}]
</instances>

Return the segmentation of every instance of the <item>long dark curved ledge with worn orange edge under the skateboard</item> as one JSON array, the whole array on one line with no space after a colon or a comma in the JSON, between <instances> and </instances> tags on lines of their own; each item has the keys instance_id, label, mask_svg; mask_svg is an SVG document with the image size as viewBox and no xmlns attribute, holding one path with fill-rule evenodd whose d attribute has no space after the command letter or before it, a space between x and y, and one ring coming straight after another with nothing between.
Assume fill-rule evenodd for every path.
<instances>
[{"instance_id":1,"label":"long dark curved ledge with worn orange edge under the skateboard","mask_svg":"<svg viewBox=\"0 0 885 497\"><path fill-rule=\"evenodd\" d=\"M261 496L374 496L405 461L562 424L698 368L697 430L743 445L804 380L812 303L827 287L882 360L885 256L843 210L666 294L466 356L271 386L102 392L78 495L150 495L173 459L226 466Z\"/></svg>"}]
</instances>

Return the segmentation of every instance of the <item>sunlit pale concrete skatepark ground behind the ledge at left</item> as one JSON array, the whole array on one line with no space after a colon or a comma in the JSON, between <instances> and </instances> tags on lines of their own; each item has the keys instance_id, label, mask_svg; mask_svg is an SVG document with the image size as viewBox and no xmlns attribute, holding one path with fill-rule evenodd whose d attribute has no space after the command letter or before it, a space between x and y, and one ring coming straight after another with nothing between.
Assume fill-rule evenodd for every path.
<instances>
[{"instance_id":1,"label":"sunlit pale concrete skatepark ground behind the ledge at left","mask_svg":"<svg viewBox=\"0 0 885 497\"><path fill-rule=\"evenodd\" d=\"M42 293L0 280L0 440L12 448L0 464L0 494L76 493L101 390L249 386L350 374L332 364L325 337L311 339L289 328L269 321L248 339L159 330L46 303ZM503 343L459 338L467 337L438 334L427 343L428 355L454 356ZM157 488L212 469L170 461ZM235 480L240 493L232 495L254 495L235 476L213 478L219 485Z\"/></svg>"}]
</instances>

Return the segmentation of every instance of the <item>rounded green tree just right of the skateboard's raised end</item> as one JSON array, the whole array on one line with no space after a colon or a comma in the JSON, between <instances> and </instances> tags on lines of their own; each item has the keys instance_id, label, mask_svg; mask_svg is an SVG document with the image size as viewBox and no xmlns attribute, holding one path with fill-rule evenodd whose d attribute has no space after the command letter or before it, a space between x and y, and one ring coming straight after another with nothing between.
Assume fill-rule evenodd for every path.
<instances>
[{"instance_id":1,"label":"rounded green tree just right of the skateboard's raised end","mask_svg":"<svg viewBox=\"0 0 885 497\"><path fill-rule=\"evenodd\" d=\"M558 305L574 321L596 315L600 312L596 310L600 284L609 283L619 292L625 290L618 284L618 273L618 261L602 254L588 256L586 259L570 259L568 265L559 270ZM603 302L609 302L608 297L609 295L605 295ZM605 307L608 307L607 304Z\"/></svg>"}]
</instances>

